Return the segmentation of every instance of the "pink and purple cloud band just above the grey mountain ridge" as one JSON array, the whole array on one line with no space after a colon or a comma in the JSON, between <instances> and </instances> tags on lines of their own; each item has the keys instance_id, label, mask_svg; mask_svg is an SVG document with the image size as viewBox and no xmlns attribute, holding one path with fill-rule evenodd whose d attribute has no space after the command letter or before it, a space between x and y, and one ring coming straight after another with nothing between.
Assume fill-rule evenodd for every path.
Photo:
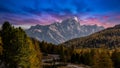
<instances>
[{"instance_id":1,"label":"pink and purple cloud band just above the grey mountain ridge","mask_svg":"<svg viewBox=\"0 0 120 68\"><path fill-rule=\"evenodd\" d=\"M10 21L14 25L49 25L54 22L59 22L66 18L73 17L72 15L57 15L57 14L36 14L32 16L26 15L15 15L15 14L0 14L0 21ZM98 25L104 27L111 27L115 24L120 24L120 14L117 15L86 15L85 18L82 19L81 15L76 15L80 19L81 25ZM81 20L82 19L82 20Z\"/></svg>"}]
</instances>

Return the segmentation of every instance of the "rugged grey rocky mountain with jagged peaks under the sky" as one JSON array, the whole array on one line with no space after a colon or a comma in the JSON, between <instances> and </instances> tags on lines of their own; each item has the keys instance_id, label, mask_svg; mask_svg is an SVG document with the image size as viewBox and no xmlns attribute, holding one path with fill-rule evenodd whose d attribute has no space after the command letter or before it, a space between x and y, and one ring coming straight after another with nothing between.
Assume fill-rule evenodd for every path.
<instances>
[{"instance_id":1,"label":"rugged grey rocky mountain with jagged peaks under the sky","mask_svg":"<svg viewBox=\"0 0 120 68\"><path fill-rule=\"evenodd\" d=\"M80 25L77 17L64 19L50 25L36 25L26 30L26 33L38 40L59 44L67 40L90 35L103 30L102 26Z\"/></svg>"}]
</instances>

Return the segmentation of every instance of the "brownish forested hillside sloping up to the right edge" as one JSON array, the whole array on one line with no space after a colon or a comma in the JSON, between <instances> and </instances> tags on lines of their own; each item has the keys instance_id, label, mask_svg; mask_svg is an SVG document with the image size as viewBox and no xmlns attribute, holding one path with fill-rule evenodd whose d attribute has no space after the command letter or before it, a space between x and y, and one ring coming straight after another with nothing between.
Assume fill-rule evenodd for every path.
<instances>
[{"instance_id":1,"label":"brownish forested hillside sloping up to the right edge","mask_svg":"<svg viewBox=\"0 0 120 68\"><path fill-rule=\"evenodd\" d=\"M86 37L75 38L64 42L67 47L116 48L120 47L120 25L104 29Z\"/></svg>"}]
</instances>

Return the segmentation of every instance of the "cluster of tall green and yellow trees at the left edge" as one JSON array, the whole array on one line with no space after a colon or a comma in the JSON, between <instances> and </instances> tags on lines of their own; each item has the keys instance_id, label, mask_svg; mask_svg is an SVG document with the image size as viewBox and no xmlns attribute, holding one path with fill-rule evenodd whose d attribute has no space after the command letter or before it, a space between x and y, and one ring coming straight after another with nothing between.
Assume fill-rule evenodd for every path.
<instances>
[{"instance_id":1,"label":"cluster of tall green and yellow trees at the left edge","mask_svg":"<svg viewBox=\"0 0 120 68\"><path fill-rule=\"evenodd\" d=\"M29 38L23 29L5 22L0 30L1 68L41 68L38 41Z\"/></svg>"}]
</instances>

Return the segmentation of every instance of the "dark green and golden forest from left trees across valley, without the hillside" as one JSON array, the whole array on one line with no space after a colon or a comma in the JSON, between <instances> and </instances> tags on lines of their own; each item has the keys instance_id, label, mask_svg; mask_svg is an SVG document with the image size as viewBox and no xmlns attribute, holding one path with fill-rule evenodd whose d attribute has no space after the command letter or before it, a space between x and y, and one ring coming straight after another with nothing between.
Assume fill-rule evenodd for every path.
<instances>
[{"instance_id":1,"label":"dark green and golden forest from left trees across valley, without the hillside","mask_svg":"<svg viewBox=\"0 0 120 68\"><path fill-rule=\"evenodd\" d=\"M55 65L49 67L42 65L42 58L47 54L59 55L58 61L64 64L84 64L90 68L120 68L119 47L106 48L101 45L77 48L66 47L63 44L55 45L30 38L21 27L15 28L9 22L4 22L0 30L1 68L58 68Z\"/></svg>"}]
</instances>

